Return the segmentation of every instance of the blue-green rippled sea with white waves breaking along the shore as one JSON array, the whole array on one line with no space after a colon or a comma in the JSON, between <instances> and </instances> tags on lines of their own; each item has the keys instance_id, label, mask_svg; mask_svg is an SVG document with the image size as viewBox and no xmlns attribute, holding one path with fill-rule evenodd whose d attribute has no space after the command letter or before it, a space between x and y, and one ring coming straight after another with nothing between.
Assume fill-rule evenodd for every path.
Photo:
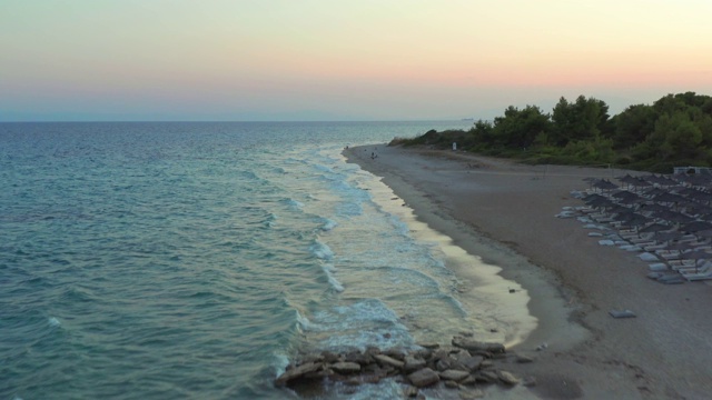
<instances>
[{"instance_id":1,"label":"blue-green rippled sea with white waves breaking along the shore","mask_svg":"<svg viewBox=\"0 0 712 400\"><path fill-rule=\"evenodd\" d=\"M297 399L300 353L486 331L448 238L342 156L471 123L0 123L0 399Z\"/></svg>"}]
</instances>

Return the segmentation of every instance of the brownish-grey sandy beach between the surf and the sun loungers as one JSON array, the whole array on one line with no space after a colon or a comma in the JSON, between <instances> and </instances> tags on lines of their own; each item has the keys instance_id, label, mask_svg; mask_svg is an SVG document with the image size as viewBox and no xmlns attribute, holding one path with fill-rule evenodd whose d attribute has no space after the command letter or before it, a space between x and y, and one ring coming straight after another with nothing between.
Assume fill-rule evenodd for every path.
<instances>
[{"instance_id":1,"label":"brownish-grey sandy beach between the surf and the sun loungers","mask_svg":"<svg viewBox=\"0 0 712 400\"><path fill-rule=\"evenodd\" d=\"M502 267L504 278L528 292L538 324L512 350L536 361L511 369L536 379L532 394L712 398L710 284L646 279L647 266L636 253L599 246L581 222L554 217L564 206L581 204L570 192L587 188L583 178L626 171L531 167L385 144L344 154L383 177L418 219ZM613 309L630 309L637 318L614 319ZM544 342L547 348L536 351Z\"/></svg>"}]
</instances>

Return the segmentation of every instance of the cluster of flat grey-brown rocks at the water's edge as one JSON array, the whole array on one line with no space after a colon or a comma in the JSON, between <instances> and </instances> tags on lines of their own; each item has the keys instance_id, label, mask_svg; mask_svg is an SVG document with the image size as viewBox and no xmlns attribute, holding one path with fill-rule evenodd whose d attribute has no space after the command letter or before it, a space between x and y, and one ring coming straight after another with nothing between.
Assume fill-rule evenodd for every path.
<instances>
[{"instance_id":1,"label":"cluster of flat grey-brown rocks at the water's edge","mask_svg":"<svg viewBox=\"0 0 712 400\"><path fill-rule=\"evenodd\" d=\"M432 387L467 390L483 384L535 384L533 378L522 380L498 368L500 360L518 363L533 361L525 356L506 353L501 343L456 336L452 347L421 344L417 350L394 348L380 351L367 348L365 351L345 353L323 351L305 354L289 364L275 383L299 392L299 388L313 388L324 381L357 387L393 378L405 386L404 393L407 397L418 397L421 388ZM472 398L477 397L477 392L468 393L473 394Z\"/></svg>"}]
</instances>

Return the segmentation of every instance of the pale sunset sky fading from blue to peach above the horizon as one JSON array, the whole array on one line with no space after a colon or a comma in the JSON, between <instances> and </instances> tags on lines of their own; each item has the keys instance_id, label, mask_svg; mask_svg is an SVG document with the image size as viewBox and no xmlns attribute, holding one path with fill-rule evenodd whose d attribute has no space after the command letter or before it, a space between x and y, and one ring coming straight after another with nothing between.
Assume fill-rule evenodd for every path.
<instances>
[{"instance_id":1,"label":"pale sunset sky fading from blue to peach above the horizon","mask_svg":"<svg viewBox=\"0 0 712 400\"><path fill-rule=\"evenodd\" d=\"M0 0L0 121L492 119L712 96L710 0Z\"/></svg>"}]
</instances>

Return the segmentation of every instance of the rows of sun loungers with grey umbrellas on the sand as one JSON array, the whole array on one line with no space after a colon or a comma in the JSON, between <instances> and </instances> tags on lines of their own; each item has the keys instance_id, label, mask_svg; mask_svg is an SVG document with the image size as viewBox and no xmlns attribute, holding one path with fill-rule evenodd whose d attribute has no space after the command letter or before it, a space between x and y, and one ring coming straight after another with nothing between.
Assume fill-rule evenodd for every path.
<instances>
[{"instance_id":1,"label":"rows of sun loungers with grey umbrellas on the sand","mask_svg":"<svg viewBox=\"0 0 712 400\"><path fill-rule=\"evenodd\" d=\"M585 206L556 217L577 218L602 246L639 252L661 283L712 280L712 174L617 179L590 180L572 192Z\"/></svg>"}]
</instances>

